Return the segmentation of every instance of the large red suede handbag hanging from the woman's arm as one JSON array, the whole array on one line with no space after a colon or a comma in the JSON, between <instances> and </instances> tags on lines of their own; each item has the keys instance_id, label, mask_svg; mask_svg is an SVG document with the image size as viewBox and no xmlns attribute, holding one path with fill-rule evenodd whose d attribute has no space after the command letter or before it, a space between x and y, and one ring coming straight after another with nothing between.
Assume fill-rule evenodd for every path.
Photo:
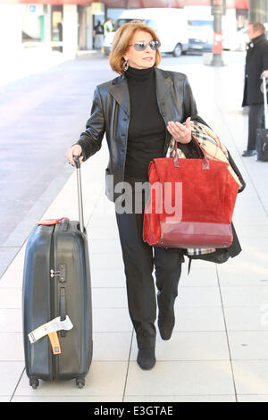
<instances>
[{"instance_id":1,"label":"large red suede handbag hanging from the woman's arm","mask_svg":"<svg viewBox=\"0 0 268 420\"><path fill-rule=\"evenodd\" d=\"M228 164L205 154L202 159L180 159L176 142L175 156L154 159L148 175L144 241L166 248L230 247L239 186Z\"/></svg>"}]
</instances>

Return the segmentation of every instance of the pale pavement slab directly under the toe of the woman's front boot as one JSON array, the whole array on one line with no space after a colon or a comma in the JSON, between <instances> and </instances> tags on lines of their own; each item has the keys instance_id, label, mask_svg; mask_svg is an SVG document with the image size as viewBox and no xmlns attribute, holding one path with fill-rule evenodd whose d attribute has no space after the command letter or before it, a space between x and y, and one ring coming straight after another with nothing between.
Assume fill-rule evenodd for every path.
<instances>
[{"instance_id":1,"label":"pale pavement slab directly under the toe of the woman's front boot","mask_svg":"<svg viewBox=\"0 0 268 420\"><path fill-rule=\"evenodd\" d=\"M234 395L230 361L160 361L151 371L130 362L126 396Z\"/></svg>"}]
</instances>

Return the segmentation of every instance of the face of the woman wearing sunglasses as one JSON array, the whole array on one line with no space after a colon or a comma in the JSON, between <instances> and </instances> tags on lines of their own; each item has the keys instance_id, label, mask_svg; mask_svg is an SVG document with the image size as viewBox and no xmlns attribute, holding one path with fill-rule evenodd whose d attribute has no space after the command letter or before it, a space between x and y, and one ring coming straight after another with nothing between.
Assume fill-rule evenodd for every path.
<instances>
[{"instance_id":1,"label":"face of the woman wearing sunglasses","mask_svg":"<svg viewBox=\"0 0 268 420\"><path fill-rule=\"evenodd\" d=\"M155 65L155 54L156 51L152 50L148 45L150 41L153 41L152 35L144 30L137 30L132 39L130 40L131 46L128 47L124 59L130 64L130 67L135 69L148 69ZM136 42L147 42L147 47L144 51L136 51L133 44Z\"/></svg>"}]
</instances>

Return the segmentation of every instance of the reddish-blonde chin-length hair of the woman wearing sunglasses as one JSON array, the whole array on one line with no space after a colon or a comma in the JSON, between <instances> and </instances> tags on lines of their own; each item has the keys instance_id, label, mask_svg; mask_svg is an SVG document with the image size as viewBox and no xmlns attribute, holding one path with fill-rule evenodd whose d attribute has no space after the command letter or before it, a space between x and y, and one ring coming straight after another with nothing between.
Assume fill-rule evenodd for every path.
<instances>
[{"instance_id":1,"label":"reddish-blonde chin-length hair of the woman wearing sunglasses","mask_svg":"<svg viewBox=\"0 0 268 420\"><path fill-rule=\"evenodd\" d=\"M155 30L147 26L142 21L130 21L122 25L114 34L112 51L109 55L109 63L112 70L119 74L123 74L124 72L122 70L122 65L125 61L123 55L126 54L131 38L137 30L144 30L145 32L148 32L154 41L158 41L159 45L161 44L159 38L155 34ZM156 50L154 67L157 67L160 62L161 54L159 50Z\"/></svg>"}]
</instances>

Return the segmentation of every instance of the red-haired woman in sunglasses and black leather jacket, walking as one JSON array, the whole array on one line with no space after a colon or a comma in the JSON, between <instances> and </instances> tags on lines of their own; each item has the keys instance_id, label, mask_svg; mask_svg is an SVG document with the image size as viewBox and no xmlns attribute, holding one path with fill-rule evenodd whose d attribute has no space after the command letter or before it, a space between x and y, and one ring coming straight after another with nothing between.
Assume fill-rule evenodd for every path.
<instances>
[{"instance_id":1,"label":"red-haired woman in sunglasses and black leather jacket, walking","mask_svg":"<svg viewBox=\"0 0 268 420\"><path fill-rule=\"evenodd\" d=\"M136 185L148 181L148 164L165 156L172 137L185 153L188 148L195 149L189 117L197 114L186 75L158 68L159 46L155 31L141 21L131 21L116 31L109 63L120 76L96 87L86 130L66 154L71 164L75 155L85 161L100 149L106 135L110 153L106 195L115 202L130 318L138 343L137 362L142 369L155 365L154 265L158 327L163 340L169 340L184 257L182 249L153 248L143 241L145 197L141 212L133 211L134 207L128 212L117 211L121 196L116 185L128 181L134 203Z\"/></svg>"}]
</instances>

